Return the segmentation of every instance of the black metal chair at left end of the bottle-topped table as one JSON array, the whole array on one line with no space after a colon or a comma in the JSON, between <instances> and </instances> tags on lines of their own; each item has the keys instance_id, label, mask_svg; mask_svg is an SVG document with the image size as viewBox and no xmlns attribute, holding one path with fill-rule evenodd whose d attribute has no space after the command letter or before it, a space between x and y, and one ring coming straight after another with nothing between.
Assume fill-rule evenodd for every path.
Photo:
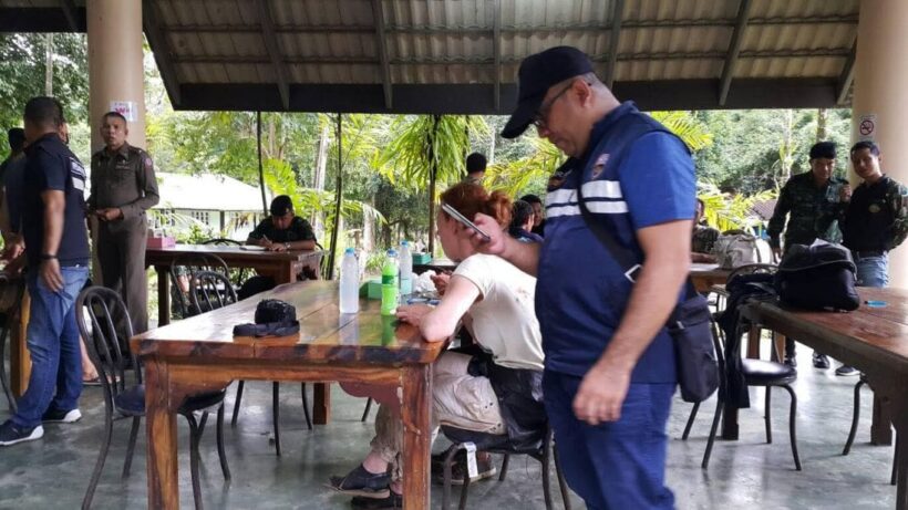
<instances>
[{"instance_id":1,"label":"black metal chair at left end of the bottle-topped table","mask_svg":"<svg viewBox=\"0 0 908 510\"><path fill-rule=\"evenodd\" d=\"M121 419L132 419L130 443L126 449L126 459L123 465L123 477L130 475L135 441L138 436L138 426L145 416L145 386L142 378L142 368L130 351L124 339L133 335L133 326L126 305L116 292L103 287L90 287L75 300L76 324L82 337L85 339L89 356L92 358L101 386L104 391L104 438L101 451L92 472L89 489L82 500L82 508L92 504L101 471L107 458L113 435L113 423ZM122 327L125 331L117 331ZM125 345L125 348L124 348ZM128 372L134 373L135 383L126 384ZM199 452L198 444L208 420L208 413L217 409L217 451L220 459L220 469L224 479L230 481L230 468L227 466L227 456L224 450L224 395L225 391L206 392L193 395L183 403L177 413L189 424L189 469L193 480L193 498L195 507L202 508L202 488L198 478ZM196 413L200 413L197 418Z\"/></svg>"}]
</instances>

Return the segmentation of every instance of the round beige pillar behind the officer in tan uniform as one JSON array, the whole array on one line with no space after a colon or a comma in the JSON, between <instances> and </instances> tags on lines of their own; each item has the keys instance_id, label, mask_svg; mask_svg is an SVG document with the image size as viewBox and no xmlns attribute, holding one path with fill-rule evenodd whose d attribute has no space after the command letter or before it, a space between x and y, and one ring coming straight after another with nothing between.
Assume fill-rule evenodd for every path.
<instances>
[{"instance_id":1,"label":"round beige pillar behind the officer in tan uniform","mask_svg":"<svg viewBox=\"0 0 908 510\"><path fill-rule=\"evenodd\" d=\"M142 0L87 0L85 8L92 153L104 145L101 116L121 108L130 121L130 145L145 148Z\"/></svg>"}]
</instances>

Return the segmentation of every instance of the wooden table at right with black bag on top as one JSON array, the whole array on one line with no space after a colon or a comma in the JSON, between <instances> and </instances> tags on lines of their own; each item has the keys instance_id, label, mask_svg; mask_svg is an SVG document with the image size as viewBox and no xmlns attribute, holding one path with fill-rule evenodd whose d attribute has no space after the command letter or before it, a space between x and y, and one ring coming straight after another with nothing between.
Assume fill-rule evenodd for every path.
<instances>
[{"instance_id":1,"label":"wooden table at right with black bag on top","mask_svg":"<svg viewBox=\"0 0 908 510\"><path fill-rule=\"evenodd\" d=\"M888 443L891 421L899 438L896 508L908 510L908 289L858 288L858 293L861 305L850 313L797 312L761 302L741 313L867 374L875 398L871 440ZM867 300L888 304L869 308ZM725 420L736 433L736 413Z\"/></svg>"}]
</instances>

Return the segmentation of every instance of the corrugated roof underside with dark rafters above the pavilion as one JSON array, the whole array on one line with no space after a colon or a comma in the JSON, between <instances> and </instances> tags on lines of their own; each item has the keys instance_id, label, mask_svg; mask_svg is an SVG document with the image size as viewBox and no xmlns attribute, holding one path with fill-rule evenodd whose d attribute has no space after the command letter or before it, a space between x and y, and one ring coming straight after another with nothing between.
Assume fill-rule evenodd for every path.
<instances>
[{"instance_id":1,"label":"corrugated roof underside with dark rafters above the pavilion","mask_svg":"<svg viewBox=\"0 0 908 510\"><path fill-rule=\"evenodd\" d=\"M0 0L0 31L84 30ZM507 114L525 56L587 52L644 110L849 101L858 0L144 0L175 108Z\"/></svg>"}]
</instances>

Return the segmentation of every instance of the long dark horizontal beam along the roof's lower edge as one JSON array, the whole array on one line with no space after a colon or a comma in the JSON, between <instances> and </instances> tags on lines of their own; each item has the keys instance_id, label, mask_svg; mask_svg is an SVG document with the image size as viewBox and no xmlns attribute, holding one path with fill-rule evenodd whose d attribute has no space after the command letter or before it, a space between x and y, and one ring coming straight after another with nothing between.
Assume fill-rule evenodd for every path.
<instances>
[{"instance_id":1,"label":"long dark horizontal beam along the roof's lower edge","mask_svg":"<svg viewBox=\"0 0 908 510\"><path fill-rule=\"evenodd\" d=\"M389 113L382 85L293 84L291 112ZM836 107L835 79L774 79L734 81L734 94L725 108ZM640 108L719 108L715 79L626 82L615 84L618 97L633 98ZM271 84L185 84L183 106L196 111L280 112L282 105ZM502 102L517 101L517 85L502 84ZM394 114L499 114L492 101L492 84L394 85Z\"/></svg>"}]
</instances>

